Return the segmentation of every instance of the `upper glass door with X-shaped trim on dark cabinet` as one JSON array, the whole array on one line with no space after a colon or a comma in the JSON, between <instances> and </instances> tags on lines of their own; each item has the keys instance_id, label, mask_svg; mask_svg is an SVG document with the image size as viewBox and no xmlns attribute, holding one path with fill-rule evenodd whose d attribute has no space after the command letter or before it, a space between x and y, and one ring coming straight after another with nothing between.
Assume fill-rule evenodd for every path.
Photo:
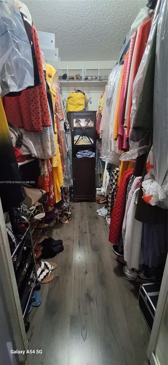
<instances>
[{"instance_id":1,"label":"upper glass door with X-shaped trim on dark cabinet","mask_svg":"<svg viewBox=\"0 0 168 365\"><path fill-rule=\"evenodd\" d=\"M93 115L73 117L74 145L93 145Z\"/></svg>"}]
</instances>

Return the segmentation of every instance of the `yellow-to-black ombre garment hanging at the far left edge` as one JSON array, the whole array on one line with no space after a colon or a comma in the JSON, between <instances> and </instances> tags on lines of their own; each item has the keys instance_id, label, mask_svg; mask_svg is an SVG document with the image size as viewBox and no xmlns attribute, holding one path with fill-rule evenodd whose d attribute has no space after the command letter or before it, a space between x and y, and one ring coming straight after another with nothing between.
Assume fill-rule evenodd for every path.
<instances>
[{"instance_id":1,"label":"yellow-to-black ombre garment hanging at the far left edge","mask_svg":"<svg viewBox=\"0 0 168 365\"><path fill-rule=\"evenodd\" d=\"M16 162L16 157L14 154L14 149L9 134L8 123L1 98L0 115L0 197L3 211L7 212L12 207L17 207L18 204L24 200L26 194L21 183L22 179L19 172L19 166Z\"/></svg>"}]
</instances>

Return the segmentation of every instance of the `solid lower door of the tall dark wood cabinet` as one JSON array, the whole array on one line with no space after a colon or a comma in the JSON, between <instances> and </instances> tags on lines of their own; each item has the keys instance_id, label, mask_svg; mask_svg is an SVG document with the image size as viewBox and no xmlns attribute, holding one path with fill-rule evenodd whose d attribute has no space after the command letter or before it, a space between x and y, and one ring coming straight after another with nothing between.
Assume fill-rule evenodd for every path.
<instances>
[{"instance_id":1,"label":"solid lower door of the tall dark wood cabinet","mask_svg":"<svg viewBox=\"0 0 168 365\"><path fill-rule=\"evenodd\" d=\"M95 201L95 157L73 158L73 200Z\"/></svg>"}]
</instances>

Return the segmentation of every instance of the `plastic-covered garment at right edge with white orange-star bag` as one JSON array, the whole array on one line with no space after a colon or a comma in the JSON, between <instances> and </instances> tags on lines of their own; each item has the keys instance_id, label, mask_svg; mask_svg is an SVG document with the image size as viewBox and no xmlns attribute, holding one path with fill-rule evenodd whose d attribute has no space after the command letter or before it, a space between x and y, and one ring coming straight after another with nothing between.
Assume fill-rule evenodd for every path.
<instances>
[{"instance_id":1,"label":"plastic-covered garment at right edge with white orange-star bag","mask_svg":"<svg viewBox=\"0 0 168 365\"><path fill-rule=\"evenodd\" d=\"M167 1L161 3L157 24L152 121L153 146L146 163L145 188L142 187L145 193L143 199L145 196L150 204L159 204L162 208L168 207L167 6Z\"/></svg>"}]
</instances>

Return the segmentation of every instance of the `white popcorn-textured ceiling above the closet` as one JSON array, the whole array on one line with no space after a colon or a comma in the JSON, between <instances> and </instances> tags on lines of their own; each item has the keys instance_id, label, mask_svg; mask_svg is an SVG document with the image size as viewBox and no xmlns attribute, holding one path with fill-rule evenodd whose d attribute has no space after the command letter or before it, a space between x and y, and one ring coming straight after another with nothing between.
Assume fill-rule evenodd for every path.
<instances>
[{"instance_id":1,"label":"white popcorn-textured ceiling above the closet","mask_svg":"<svg viewBox=\"0 0 168 365\"><path fill-rule=\"evenodd\" d=\"M147 0L22 0L37 30L55 33L61 61L118 59Z\"/></svg>"}]
</instances>

